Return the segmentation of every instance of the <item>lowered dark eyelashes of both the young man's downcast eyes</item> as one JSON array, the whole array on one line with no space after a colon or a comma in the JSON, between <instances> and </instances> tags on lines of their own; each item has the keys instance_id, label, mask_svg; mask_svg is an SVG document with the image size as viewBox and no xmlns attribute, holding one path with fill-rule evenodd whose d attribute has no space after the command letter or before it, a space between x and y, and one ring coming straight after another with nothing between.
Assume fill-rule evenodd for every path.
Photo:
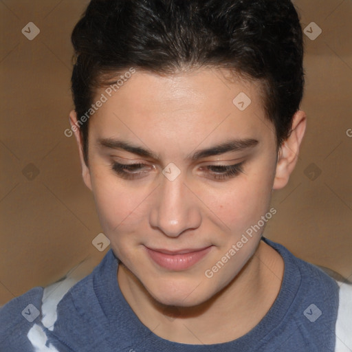
<instances>
[{"instance_id":1,"label":"lowered dark eyelashes of both the young man's downcast eyes","mask_svg":"<svg viewBox=\"0 0 352 352\"><path fill-rule=\"evenodd\" d=\"M242 168L243 162L239 164L234 164L234 165L209 165L206 166L208 170L212 171L212 176L208 177L211 179L219 180L222 181L224 179L230 179L232 177L235 177L239 175L239 173L243 173L243 168ZM133 172L133 170L136 170L138 168L142 168L143 166L146 166L146 164L120 164L118 162L113 162L111 164L111 169L115 171L120 177L124 179L139 179L142 178L144 174L147 173L147 171L142 171L142 172ZM126 171L128 170L128 171ZM220 171L220 172L219 172Z\"/></svg>"}]
</instances>

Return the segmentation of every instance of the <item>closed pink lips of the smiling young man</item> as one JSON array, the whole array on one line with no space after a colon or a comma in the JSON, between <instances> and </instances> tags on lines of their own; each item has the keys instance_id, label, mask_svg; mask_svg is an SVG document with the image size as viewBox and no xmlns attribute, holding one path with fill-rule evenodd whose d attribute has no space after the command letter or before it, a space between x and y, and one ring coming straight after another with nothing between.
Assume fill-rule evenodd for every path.
<instances>
[{"instance_id":1,"label":"closed pink lips of the smiling young man","mask_svg":"<svg viewBox=\"0 0 352 352\"><path fill-rule=\"evenodd\" d=\"M200 261L203 256L210 252L212 245L199 250L180 250L170 252L168 250L151 250L146 247L146 251L155 263L168 270L186 270Z\"/></svg>"}]
</instances>

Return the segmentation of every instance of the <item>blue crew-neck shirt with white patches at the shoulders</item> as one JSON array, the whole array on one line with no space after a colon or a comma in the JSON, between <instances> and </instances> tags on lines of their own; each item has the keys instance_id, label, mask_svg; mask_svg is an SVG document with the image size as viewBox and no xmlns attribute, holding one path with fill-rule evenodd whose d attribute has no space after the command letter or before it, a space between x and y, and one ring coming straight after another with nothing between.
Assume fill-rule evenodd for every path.
<instances>
[{"instance_id":1,"label":"blue crew-neck shirt with white patches at the shoulders","mask_svg":"<svg viewBox=\"0 0 352 352\"><path fill-rule=\"evenodd\" d=\"M342 295L338 282L318 267L283 245L262 240L283 257L283 283L265 317L241 338L195 345L155 335L124 299L118 259L109 250L78 283L67 279L46 289L36 287L2 307L0 351L351 352L351 287L344 284L348 289Z\"/></svg>"}]
</instances>

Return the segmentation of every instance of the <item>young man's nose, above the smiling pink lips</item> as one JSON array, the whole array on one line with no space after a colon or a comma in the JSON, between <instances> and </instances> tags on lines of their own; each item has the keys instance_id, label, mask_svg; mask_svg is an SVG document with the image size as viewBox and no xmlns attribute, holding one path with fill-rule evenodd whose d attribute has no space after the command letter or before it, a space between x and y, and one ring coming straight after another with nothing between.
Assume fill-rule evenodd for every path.
<instances>
[{"instance_id":1,"label":"young man's nose, above the smiling pink lips","mask_svg":"<svg viewBox=\"0 0 352 352\"><path fill-rule=\"evenodd\" d=\"M163 177L156 192L150 213L152 227L159 228L168 237L177 237L199 227L201 214L197 197L184 184L181 175L173 181Z\"/></svg>"}]
</instances>

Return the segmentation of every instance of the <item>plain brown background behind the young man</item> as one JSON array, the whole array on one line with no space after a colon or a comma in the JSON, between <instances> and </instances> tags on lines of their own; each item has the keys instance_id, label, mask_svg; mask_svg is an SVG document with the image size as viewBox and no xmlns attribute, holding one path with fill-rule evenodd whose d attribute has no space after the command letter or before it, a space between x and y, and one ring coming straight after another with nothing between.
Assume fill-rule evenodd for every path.
<instances>
[{"instance_id":1,"label":"plain brown background behind the young man","mask_svg":"<svg viewBox=\"0 0 352 352\"><path fill-rule=\"evenodd\" d=\"M101 232L94 200L74 137L63 134L70 34L87 2L0 1L0 305L85 260L87 274L107 252L91 244ZM303 27L313 21L322 34L305 36L308 129L289 185L274 192L265 236L352 277L352 1L295 3ZM41 31L32 41L21 33L29 22Z\"/></svg>"}]
</instances>

